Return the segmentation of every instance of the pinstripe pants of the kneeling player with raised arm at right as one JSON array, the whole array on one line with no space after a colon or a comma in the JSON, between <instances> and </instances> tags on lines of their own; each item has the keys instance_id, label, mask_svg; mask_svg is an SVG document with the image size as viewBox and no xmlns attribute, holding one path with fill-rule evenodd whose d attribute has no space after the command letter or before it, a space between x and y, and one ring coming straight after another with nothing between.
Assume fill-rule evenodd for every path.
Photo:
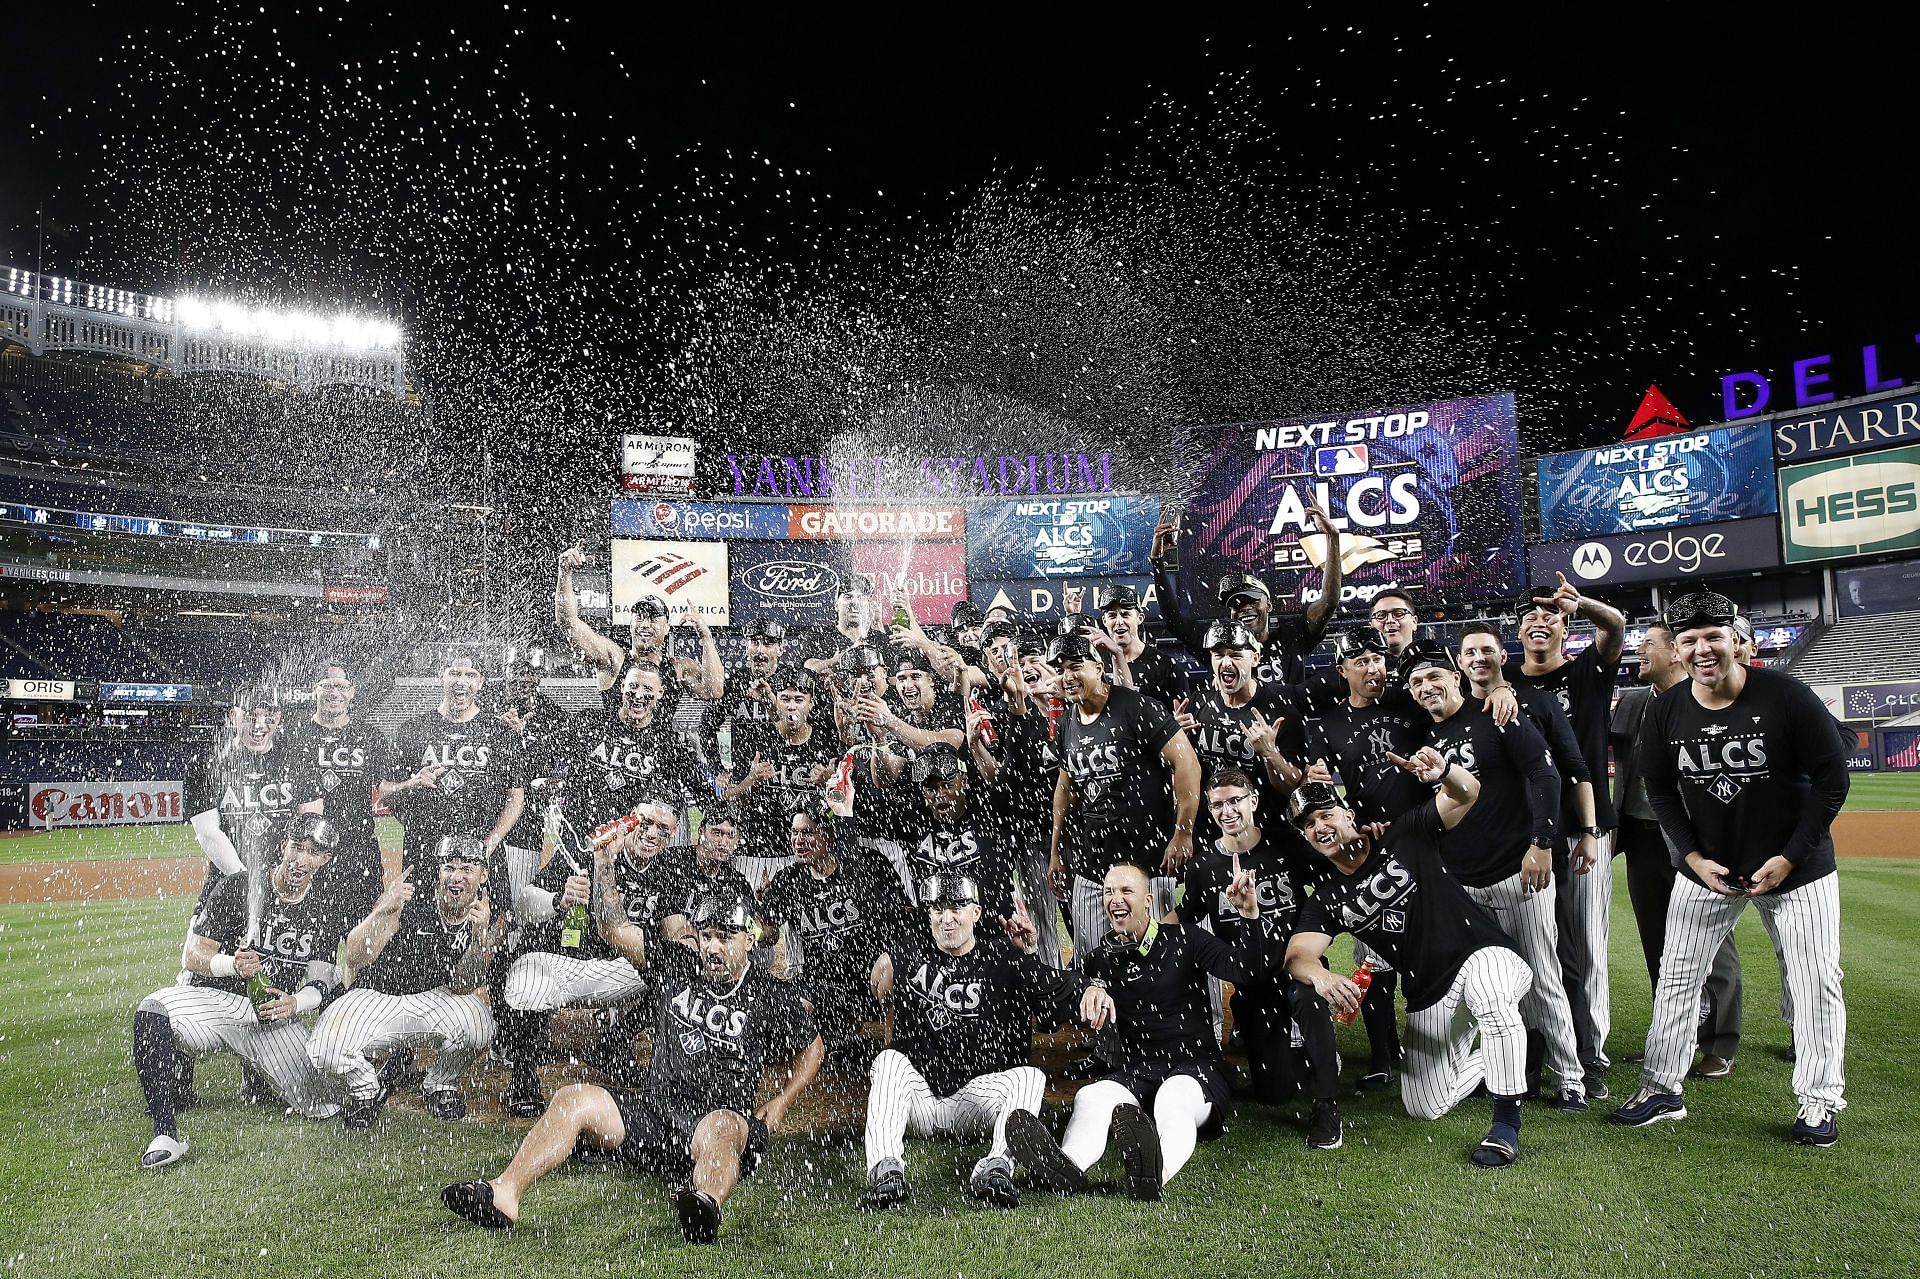
<instances>
[{"instance_id":1,"label":"pinstripe pants of the kneeling player with raised arm at right","mask_svg":"<svg viewBox=\"0 0 1920 1279\"><path fill-rule=\"evenodd\" d=\"M1526 960L1507 947L1480 947L1459 966L1444 997L1407 1014L1407 1060L1400 1074L1400 1104L1407 1114L1438 1120L1467 1100L1482 1077L1494 1097L1526 1091L1521 1001L1530 985L1534 972Z\"/></svg>"}]
</instances>

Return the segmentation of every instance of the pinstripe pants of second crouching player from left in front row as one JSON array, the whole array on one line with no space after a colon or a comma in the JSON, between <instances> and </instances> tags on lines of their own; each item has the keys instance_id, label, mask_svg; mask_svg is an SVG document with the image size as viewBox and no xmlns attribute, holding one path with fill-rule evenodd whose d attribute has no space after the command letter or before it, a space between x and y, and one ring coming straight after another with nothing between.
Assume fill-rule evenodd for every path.
<instances>
[{"instance_id":1,"label":"pinstripe pants of second crouching player from left in front row","mask_svg":"<svg viewBox=\"0 0 1920 1279\"><path fill-rule=\"evenodd\" d=\"M323 1075L346 1081L353 1100L380 1095L380 1074L367 1060L386 1049L436 1049L428 1093L453 1089L461 1072L493 1043L493 1012L478 995L434 987L419 995L348 991L321 1014L307 1056Z\"/></svg>"}]
</instances>

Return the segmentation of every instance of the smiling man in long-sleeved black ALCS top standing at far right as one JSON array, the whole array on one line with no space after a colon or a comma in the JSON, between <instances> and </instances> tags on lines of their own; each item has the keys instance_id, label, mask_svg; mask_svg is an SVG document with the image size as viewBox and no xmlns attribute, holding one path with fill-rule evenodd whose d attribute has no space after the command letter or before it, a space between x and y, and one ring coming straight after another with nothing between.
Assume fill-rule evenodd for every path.
<instances>
[{"instance_id":1,"label":"smiling man in long-sleeved black ALCS top standing at far right","mask_svg":"<svg viewBox=\"0 0 1920 1279\"><path fill-rule=\"evenodd\" d=\"M1647 707L1640 776L1680 878L1667 903L1667 949L1653 991L1640 1091L1613 1112L1642 1127L1684 1120L1699 991L1720 941L1753 901L1793 995L1793 1141L1832 1146L1845 1108L1847 1004L1839 989L1834 814L1847 757L1812 689L1738 661L1734 601L1674 599L1667 626L1690 680Z\"/></svg>"}]
</instances>

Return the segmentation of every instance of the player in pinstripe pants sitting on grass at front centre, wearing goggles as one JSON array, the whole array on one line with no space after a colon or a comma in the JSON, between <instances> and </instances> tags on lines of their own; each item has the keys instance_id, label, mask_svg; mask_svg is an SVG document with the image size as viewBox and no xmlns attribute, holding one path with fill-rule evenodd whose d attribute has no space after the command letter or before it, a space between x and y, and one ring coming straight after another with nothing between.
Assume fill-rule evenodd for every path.
<instances>
[{"instance_id":1,"label":"player in pinstripe pants sitting on grass at front centre, wearing goggles","mask_svg":"<svg viewBox=\"0 0 1920 1279\"><path fill-rule=\"evenodd\" d=\"M991 1135L968 1191L995 1208L1014 1208L1014 1162L1006 1120L1039 1114L1046 1075L1033 1060L1033 1018L1081 1018L1100 1027L1114 1001L1075 974L1033 956L1025 910L1006 920L1018 951L981 937L981 891L968 872L920 881L927 933L902 935L874 960L874 999L893 1004L893 1045L874 1058L866 1095L866 1195L862 1208L895 1208L906 1185L906 1135Z\"/></svg>"}]
</instances>

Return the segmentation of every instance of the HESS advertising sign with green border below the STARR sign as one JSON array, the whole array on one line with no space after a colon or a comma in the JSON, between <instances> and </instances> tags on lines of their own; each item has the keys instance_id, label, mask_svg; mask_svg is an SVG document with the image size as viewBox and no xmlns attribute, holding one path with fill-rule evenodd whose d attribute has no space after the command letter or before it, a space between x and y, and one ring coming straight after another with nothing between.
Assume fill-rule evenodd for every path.
<instances>
[{"instance_id":1,"label":"HESS advertising sign with green border below the STARR sign","mask_svg":"<svg viewBox=\"0 0 1920 1279\"><path fill-rule=\"evenodd\" d=\"M1920 547L1920 446L1780 469L1786 561Z\"/></svg>"}]
</instances>

